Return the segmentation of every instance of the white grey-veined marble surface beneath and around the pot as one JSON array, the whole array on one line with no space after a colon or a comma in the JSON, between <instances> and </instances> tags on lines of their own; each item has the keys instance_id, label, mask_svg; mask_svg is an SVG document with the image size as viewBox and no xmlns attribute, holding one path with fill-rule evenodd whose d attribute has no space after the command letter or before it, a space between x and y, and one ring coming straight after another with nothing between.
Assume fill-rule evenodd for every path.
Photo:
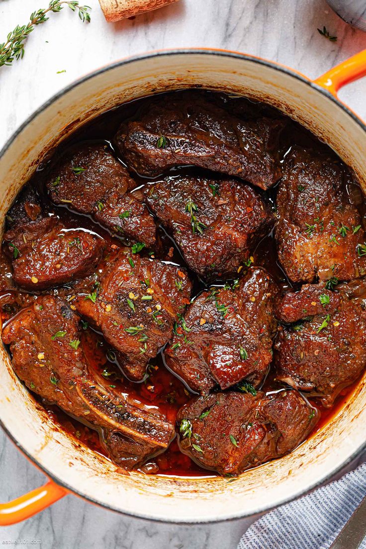
<instances>
[{"instance_id":1,"label":"white grey-veined marble surface beneath and around the pot","mask_svg":"<svg viewBox=\"0 0 366 549\"><path fill-rule=\"evenodd\" d=\"M107 24L98 0L92 23L70 10L36 28L25 58L0 68L0 149L40 104L99 66L152 49L219 47L279 61L316 77L366 48L366 33L334 15L324 0L181 0L159 12ZM0 0L0 42L47 0ZM320 36L325 25L337 42ZM57 71L66 70L61 74ZM366 118L366 79L341 92ZM0 388L1 390L1 388ZM43 483L43 475L0 433L0 499L7 501ZM131 519L67 496L25 523L0 530L0 544L41 540L44 549L233 549L247 521L175 526ZM270 549L270 548L268 548Z\"/></svg>"}]
</instances>

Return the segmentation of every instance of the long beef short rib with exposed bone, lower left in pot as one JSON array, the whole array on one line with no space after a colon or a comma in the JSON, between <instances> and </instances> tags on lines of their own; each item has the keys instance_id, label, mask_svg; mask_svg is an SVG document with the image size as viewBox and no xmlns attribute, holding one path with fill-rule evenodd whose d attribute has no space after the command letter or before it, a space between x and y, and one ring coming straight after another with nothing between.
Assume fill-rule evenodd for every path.
<instances>
[{"instance_id":1,"label":"long beef short rib with exposed bone, lower left in pot","mask_svg":"<svg viewBox=\"0 0 366 549\"><path fill-rule=\"evenodd\" d=\"M168 446L173 425L132 404L88 368L79 320L67 302L44 295L10 320L2 338L19 378L43 399L102 428L111 457L132 468Z\"/></svg>"}]
</instances>

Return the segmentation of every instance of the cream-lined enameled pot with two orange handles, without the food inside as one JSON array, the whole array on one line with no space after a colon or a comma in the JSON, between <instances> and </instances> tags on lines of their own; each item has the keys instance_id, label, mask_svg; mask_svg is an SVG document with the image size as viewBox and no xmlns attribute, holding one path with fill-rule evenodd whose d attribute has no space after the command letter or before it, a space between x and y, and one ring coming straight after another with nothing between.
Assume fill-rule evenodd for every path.
<instances>
[{"instance_id":1,"label":"cream-lined enameled pot with two orange handles, without the food inside","mask_svg":"<svg viewBox=\"0 0 366 549\"><path fill-rule=\"evenodd\" d=\"M131 99L189 87L260 99L306 126L353 168L366 192L366 126L337 99L338 89L366 75L366 50L311 81L263 59L220 50L150 53L78 80L50 99L0 153L0 215L43 155L104 111ZM49 482L0 506L0 525L31 517L68 492L121 513L199 523L252 516L330 478L366 446L366 374L347 405L289 455L223 478L170 478L116 473L103 456L55 425L16 378L0 349L0 422Z\"/></svg>"}]
</instances>

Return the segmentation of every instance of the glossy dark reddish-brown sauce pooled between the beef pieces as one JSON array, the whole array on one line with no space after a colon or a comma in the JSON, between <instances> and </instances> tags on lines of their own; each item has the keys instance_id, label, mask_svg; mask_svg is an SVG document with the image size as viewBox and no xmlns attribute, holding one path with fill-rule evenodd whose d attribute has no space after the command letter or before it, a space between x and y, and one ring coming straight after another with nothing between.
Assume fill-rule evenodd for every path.
<instances>
[{"instance_id":1,"label":"glossy dark reddish-brown sauce pooled between the beef pieces","mask_svg":"<svg viewBox=\"0 0 366 549\"><path fill-rule=\"evenodd\" d=\"M43 191L42 185L42 171L52 163L52 158L60 156L64 150L69 147L71 144L80 143L83 141L103 141L107 143L111 148L113 154L118 157L116 150L112 144L112 138L117 131L122 120L126 120L132 117L140 106L148 101L148 98L140 99L133 101L126 105L109 111L97 119L89 122L87 125L81 128L72 135L66 142L61 144L57 149L53 150L49 154L48 158L43 159L40 165L38 165L37 172L32 178L32 183L37 186L41 194L44 203L57 214L61 221L63 221L68 228L83 228L88 231L93 231L98 233L103 237L108 243L106 248L106 254L110 253L111 247L121 247L125 243L123 240L116 238L115 235L110 234L106 229L99 226L95 223L91 217L76 214L71 212L67 206L54 206L50 204L49 199ZM255 108L255 106L254 106ZM271 109L273 111L273 109ZM299 144L305 147L312 147L319 149L325 149L328 151L328 154L332 155L335 159L335 153L331 151L324 143L321 143L316 137L314 137L309 131L305 128L292 122L289 125L288 130L282 137L281 151L284 155L293 145ZM122 160L119 159L121 162ZM123 162L122 162L123 163ZM190 172L198 173L199 170L194 169L193 167L184 167L184 168L175 168L172 170L172 173L180 172ZM145 178L141 177L138 174L133 174L134 179L137 182L137 187L145 186L149 182L159 180L159 177L156 178ZM363 201L360 199L362 197L361 189L357 186L356 183L353 183L351 180L348 182L347 186L348 194L350 195L350 200L357 205L361 211L361 215L364 218L365 211L363 206ZM272 203L274 207L275 203L275 193L276 189L271 189L270 192L266 193L268 200ZM360 194L361 193L361 194ZM161 238L161 251L159 257L162 260L173 261L179 265L185 265L181 253L174 244L173 240L165 233L164 229L160 227L160 238ZM281 269L277 256L275 253L275 242L273 237L273 231L265 237L261 243L258 245L257 249L252 254L254 256L254 265L259 265L267 269L273 278L280 284L282 288L292 287L292 283L286 277L285 273ZM198 295L202 290L206 288L205 284L199 279L195 273L189 270L189 275L193 280L193 295ZM216 285L223 284L223 281L218 280ZM214 285L215 285L214 284ZM53 290L54 293L58 295L72 295L74 292L74 287L72 284L70 286L65 286ZM14 283L11 277L11 266L10 263L1 251L0 253L0 310L2 321L5 322L9 320L14 314L21 309L21 307L26 306L34 299L37 299L35 294L25 293L19 291L14 287ZM83 331L82 334L82 344L83 349L85 350L85 355L89 365L95 368L99 373L102 373L106 379L109 380L111 385L116 386L116 390L120 390L123 393L128 393L134 399L142 402L144 405L151 406L164 413L168 419L175 423L176 415L179 408L188 402L189 399L193 396L192 392L187 389L183 382L178 379L176 375L170 372L164 363L164 357L162 352L157 355L157 357L150 361L148 366L147 376L145 380L141 383L133 383L129 381L125 376L123 376L121 369L114 360L114 356L109 348L109 345L103 339L102 335L94 332L94 330L88 328ZM337 414L340 409L344 406L349 395L353 392L354 388L357 386L358 382L353 383L347 388L343 389L339 396L337 396L333 407L324 408L322 404L316 398L307 397L309 402L319 410L320 421L318 422L313 433L317 432L319 429L322 429L330 419ZM275 379L275 374L273 368L270 369L270 373L267 376L262 389L267 390L276 390L284 388L284 384L279 383ZM34 395L35 398L40 401L40 397ZM307 396L305 394L305 396ZM68 414L64 413L55 405L50 405L47 402L42 401L43 406L48 411L50 417L53 418L55 422L58 422L61 427L63 427L68 433L74 436L78 441L87 445L96 452L101 453L106 456L102 444L100 443L99 433L89 427L77 421L77 419L70 417ZM108 457L108 456L106 456ZM183 455L178 449L177 440L174 439L170 447L161 455L155 457L153 460L150 460L147 464L142 467L142 471L145 473L158 473L164 475L177 475L177 476L193 476L193 477L202 477L202 476L212 476L213 473L202 469L196 463L194 463L188 456Z\"/></svg>"}]
</instances>

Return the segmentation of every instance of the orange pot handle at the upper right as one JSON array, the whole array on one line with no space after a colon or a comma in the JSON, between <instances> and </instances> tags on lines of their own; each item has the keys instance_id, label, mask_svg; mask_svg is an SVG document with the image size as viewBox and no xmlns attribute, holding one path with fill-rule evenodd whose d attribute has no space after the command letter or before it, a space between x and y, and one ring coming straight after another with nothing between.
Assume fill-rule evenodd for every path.
<instances>
[{"instance_id":1,"label":"orange pot handle at the upper right","mask_svg":"<svg viewBox=\"0 0 366 549\"><path fill-rule=\"evenodd\" d=\"M362 76L366 76L366 49L325 72L314 80L314 83L328 89L334 97L337 97L337 92L342 86Z\"/></svg>"}]
</instances>

